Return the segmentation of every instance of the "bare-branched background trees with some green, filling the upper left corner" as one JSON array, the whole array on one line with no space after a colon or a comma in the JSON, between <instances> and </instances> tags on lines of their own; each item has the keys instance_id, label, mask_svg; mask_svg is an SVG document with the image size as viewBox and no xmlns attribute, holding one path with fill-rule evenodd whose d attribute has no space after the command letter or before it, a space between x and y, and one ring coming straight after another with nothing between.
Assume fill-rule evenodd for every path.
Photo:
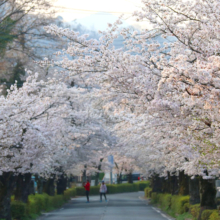
<instances>
[{"instance_id":1,"label":"bare-branched background trees with some green, filling the upper left corner","mask_svg":"<svg viewBox=\"0 0 220 220\"><path fill-rule=\"evenodd\" d=\"M34 60L42 60L47 56L49 45L54 44L53 38L43 31L45 25L55 22L53 2L53 0L1 1L0 64L3 68L0 69L0 81L6 82L7 87L15 80L19 85L22 84L18 77L21 74L21 66L39 70L37 65L33 65ZM57 47L58 44L54 44L53 47ZM23 73L20 76L22 75Z\"/></svg>"}]
</instances>

